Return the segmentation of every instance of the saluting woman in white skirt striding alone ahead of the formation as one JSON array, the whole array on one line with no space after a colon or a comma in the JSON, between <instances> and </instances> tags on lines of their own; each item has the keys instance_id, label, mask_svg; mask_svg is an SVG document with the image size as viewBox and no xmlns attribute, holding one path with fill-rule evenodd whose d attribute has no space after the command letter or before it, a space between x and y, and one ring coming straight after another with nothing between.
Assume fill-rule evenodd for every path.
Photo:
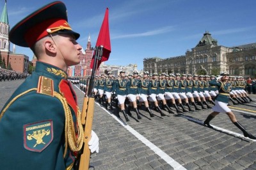
<instances>
[{"instance_id":1,"label":"saluting woman in white skirt striding alone ahead of the formation","mask_svg":"<svg viewBox=\"0 0 256 170\"><path fill-rule=\"evenodd\" d=\"M231 90L231 84L230 82L228 82L229 74L227 72L223 72L220 75L221 76L216 79L217 81L211 80L209 82L212 85L218 86L219 94L216 97L215 106L212 108L213 112L204 121L205 126L209 128L213 128L210 125L210 121L214 117L216 117L220 112L224 112L228 115L231 122L243 132L244 137L248 137L250 139L256 139L255 136L253 136L252 134L246 131L246 129L237 121L234 113L230 110L230 108L228 108L227 104L228 104L229 92Z\"/></svg>"}]
</instances>

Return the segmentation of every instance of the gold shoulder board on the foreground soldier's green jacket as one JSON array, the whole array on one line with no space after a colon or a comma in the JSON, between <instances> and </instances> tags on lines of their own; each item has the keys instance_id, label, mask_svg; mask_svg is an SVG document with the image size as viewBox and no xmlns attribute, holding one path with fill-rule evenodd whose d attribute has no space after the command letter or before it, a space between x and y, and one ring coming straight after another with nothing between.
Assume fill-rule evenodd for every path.
<instances>
[{"instance_id":1,"label":"gold shoulder board on the foreground soldier's green jacket","mask_svg":"<svg viewBox=\"0 0 256 170\"><path fill-rule=\"evenodd\" d=\"M53 97L54 96L53 80L51 78L47 78L45 76L40 76L38 79L36 92L40 93L40 94L46 94L46 95Z\"/></svg>"}]
</instances>

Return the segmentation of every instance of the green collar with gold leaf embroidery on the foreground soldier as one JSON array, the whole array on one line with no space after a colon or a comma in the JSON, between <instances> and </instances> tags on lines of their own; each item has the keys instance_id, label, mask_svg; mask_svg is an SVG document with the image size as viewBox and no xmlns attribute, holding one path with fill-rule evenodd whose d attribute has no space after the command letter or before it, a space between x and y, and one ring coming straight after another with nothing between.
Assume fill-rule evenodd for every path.
<instances>
[{"instance_id":1,"label":"green collar with gold leaf embroidery on the foreground soldier","mask_svg":"<svg viewBox=\"0 0 256 170\"><path fill-rule=\"evenodd\" d=\"M45 74L50 74L51 76L67 79L67 73L60 69L59 67L47 64L45 62L36 61L36 72L41 72Z\"/></svg>"}]
</instances>

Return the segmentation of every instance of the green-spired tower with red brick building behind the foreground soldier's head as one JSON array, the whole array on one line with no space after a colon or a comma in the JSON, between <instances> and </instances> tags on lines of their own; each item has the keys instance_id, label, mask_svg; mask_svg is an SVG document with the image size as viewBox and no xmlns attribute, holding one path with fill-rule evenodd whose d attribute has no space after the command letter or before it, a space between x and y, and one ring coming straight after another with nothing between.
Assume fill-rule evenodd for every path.
<instances>
[{"instance_id":1,"label":"green-spired tower with red brick building behind the foreground soldier's head","mask_svg":"<svg viewBox=\"0 0 256 170\"><path fill-rule=\"evenodd\" d=\"M0 18L0 57L4 60L5 65L11 66L14 71L28 73L29 57L15 53L15 45L13 45L13 51L10 51L10 41L8 38L9 32L10 25L5 1Z\"/></svg>"}]
</instances>

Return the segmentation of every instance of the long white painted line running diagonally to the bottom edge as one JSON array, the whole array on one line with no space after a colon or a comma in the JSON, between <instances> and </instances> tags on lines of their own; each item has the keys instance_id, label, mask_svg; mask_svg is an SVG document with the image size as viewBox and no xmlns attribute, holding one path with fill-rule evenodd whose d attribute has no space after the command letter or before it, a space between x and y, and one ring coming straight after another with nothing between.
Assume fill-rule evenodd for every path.
<instances>
[{"instance_id":1,"label":"long white painted line running diagonally to the bottom edge","mask_svg":"<svg viewBox=\"0 0 256 170\"><path fill-rule=\"evenodd\" d=\"M76 85L75 85L76 86ZM77 89L79 89L79 87L76 86ZM79 89L80 90L80 89ZM81 91L83 92L83 91ZM83 92L84 93L84 92ZM85 94L85 93L84 93ZM99 103L98 106L100 106ZM151 150L153 150L157 155L159 155L159 157L161 157L161 159L165 160L167 162L167 164L169 164L170 166L173 167L173 169L177 169L177 170L185 170L186 168L183 167L182 165L179 164L179 162L176 162L174 159L172 159L172 157L170 157L169 155L167 155L166 153L163 152L163 150L161 150L160 148L158 148L156 145L154 145L153 143L151 143L150 141L148 141L148 139L146 139L144 136L142 136L140 133L138 133L137 131L135 131L131 126L125 124L124 122L122 122L119 118L117 118L116 116L114 116L113 114L111 114L108 110L106 110L105 108L101 107L102 110L106 111L109 115L111 115L111 117L115 118L115 120L117 122L119 122L125 129L127 129L129 132L131 132L131 134L133 134L136 138L138 138L142 143L144 143L146 146L148 146Z\"/></svg>"}]
</instances>

